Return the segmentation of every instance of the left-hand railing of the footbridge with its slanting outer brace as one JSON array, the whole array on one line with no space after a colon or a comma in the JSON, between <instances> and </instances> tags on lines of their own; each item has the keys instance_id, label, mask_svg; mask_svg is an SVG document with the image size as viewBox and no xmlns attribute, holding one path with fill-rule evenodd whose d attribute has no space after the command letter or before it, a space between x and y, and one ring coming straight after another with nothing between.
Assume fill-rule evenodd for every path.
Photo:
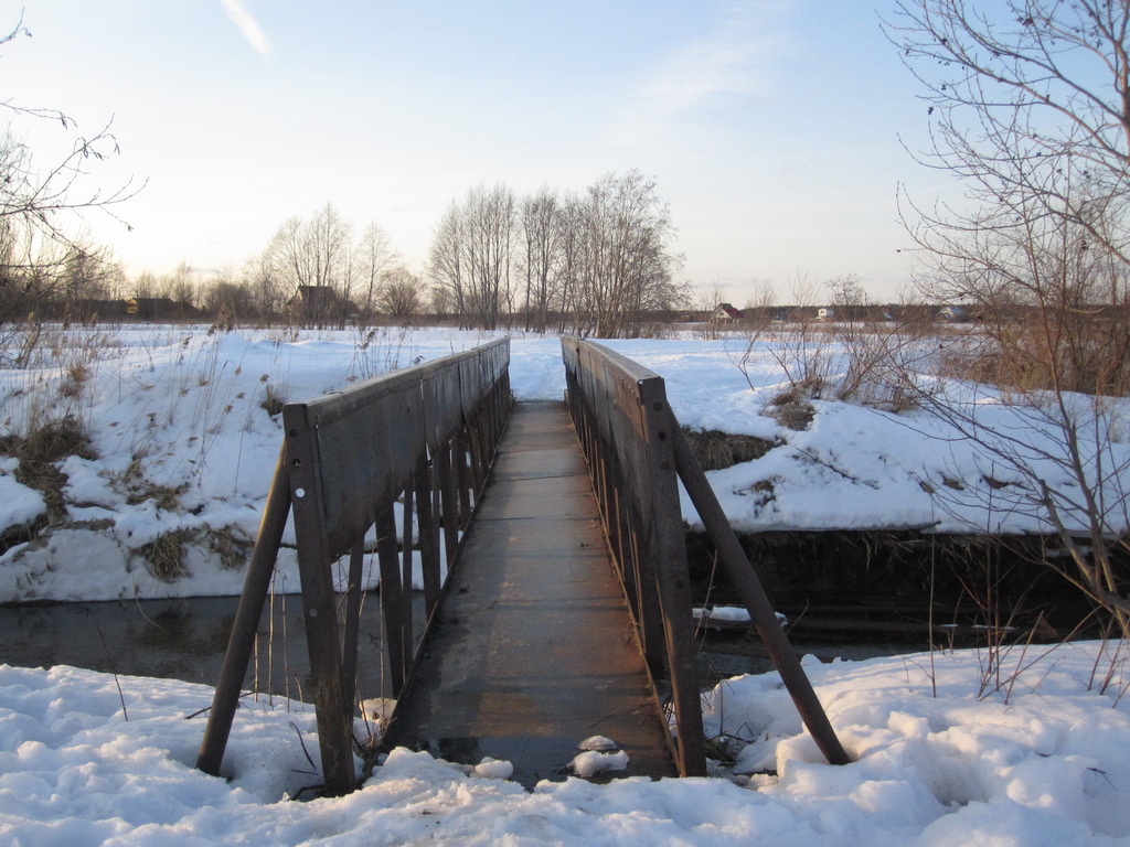
<instances>
[{"instance_id":1,"label":"left-hand railing of the footbridge with its slanting outer brace","mask_svg":"<svg viewBox=\"0 0 1130 847\"><path fill-rule=\"evenodd\" d=\"M293 510L306 643L325 791L356 787L353 763L364 540L376 527L381 610L393 696L412 666L414 515L427 614L440 597L441 551L459 534L486 481L511 409L510 341L366 381L282 410L284 445L249 565L197 767L218 775ZM402 500L398 540L394 508ZM442 536L442 538L441 538ZM344 631L332 565L349 557Z\"/></svg>"}]
</instances>

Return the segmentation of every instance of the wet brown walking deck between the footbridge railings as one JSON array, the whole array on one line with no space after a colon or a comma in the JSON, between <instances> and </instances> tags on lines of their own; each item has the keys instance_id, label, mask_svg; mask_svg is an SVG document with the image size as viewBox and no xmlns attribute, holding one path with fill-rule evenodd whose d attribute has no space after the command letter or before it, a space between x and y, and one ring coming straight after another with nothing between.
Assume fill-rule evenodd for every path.
<instances>
[{"instance_id":1,"label":"wet brown walking deck between the footbridge railings","mask_svg":"<svg viewBox=\"0 0 1130 847\"><path fill-rule=\"evenodd\" d=\"M388 743L564 779L577 744L676 776L564 403L520 403Z\"/></svg>"}]
</instances>

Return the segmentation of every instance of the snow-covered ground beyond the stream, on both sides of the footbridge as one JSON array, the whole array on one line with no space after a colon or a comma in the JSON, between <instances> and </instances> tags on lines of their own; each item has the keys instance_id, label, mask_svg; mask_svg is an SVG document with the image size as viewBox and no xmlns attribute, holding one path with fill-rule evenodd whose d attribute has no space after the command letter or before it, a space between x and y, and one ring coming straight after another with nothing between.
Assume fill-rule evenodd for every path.
<instances>
[{"instance_id":1,"label":"snow-covered ground beyond the stream, on both sides of the footbridge","mask_svg":"<svg viewBox=\"0 0 1130 847\"><path fill-rule=\"evenodd\" d=\"M134 326L99 330L97 355L90 356L89 333L61 332L61 353L43 367L0 372L0 437L70 416L89 433L95 456L61 464L64 519L0 555L0 602L238 593L240 565L281 443L271 404L318 396L493 337ZM739 531L1048 530L1031 508L1009 500L1009 491L1023 497L1024 480L986 464L953 428L924 413L814 401L810 425L792 429L766 413L786 386L784 374L768 355L744 374L734 364L741 339L607 343L664 377L684 426L776 445L760 459L710 474ZM559 399L557 339L515 337L511 381L519 400ZM1009 431L1023 422L994 404L991 392L979 390L975 399L986 422ZM1130 457L1121 431L1130 404L1123 407L1114 416L1119 431L1107 466L1124 466ZM1024 431L1036 449L1054 446L1038 426ZM0 536L36 525L46 510L40 491L16 481L17 464L0 456ZM1072 484L1053 465L1045 477L1064 490ZM986 504L996 506L989 510ZM687 500L684 515L695 523ZM293 561L284 557L280 569L293 574Z\"/></svg>"}]
</instances>

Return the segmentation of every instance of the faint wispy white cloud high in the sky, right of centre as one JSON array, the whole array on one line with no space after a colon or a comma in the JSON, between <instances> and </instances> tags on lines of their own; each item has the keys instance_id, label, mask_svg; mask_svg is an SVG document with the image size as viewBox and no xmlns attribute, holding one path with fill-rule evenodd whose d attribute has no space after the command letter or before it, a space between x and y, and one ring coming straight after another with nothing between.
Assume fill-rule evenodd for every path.
<instances>
[{"instance_id":1,"label":"faint wispy white cloud high in the sky, right of centre","mask_svg":"<svg viewBox=\"0 0 1130 847\"><path fill-rule=\"evenodd\" d=\"M616 134L637 137L687 113L771 95L777 64L791 47L784 24L788 0L747 0L709 34L688 42L652 68L618 122Z\"/></svg>"}]
</instances>

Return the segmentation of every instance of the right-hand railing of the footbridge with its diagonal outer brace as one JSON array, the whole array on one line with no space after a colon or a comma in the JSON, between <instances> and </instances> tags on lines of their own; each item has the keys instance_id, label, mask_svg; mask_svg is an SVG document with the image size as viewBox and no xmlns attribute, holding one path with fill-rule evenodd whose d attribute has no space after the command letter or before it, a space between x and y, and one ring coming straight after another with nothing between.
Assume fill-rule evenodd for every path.
<instances>
[{"instance_id":1,"label":"right-hand railing of the footbridge with its diagonal outer brace","mask_svg":"<svg viewBox=\"0 0 1130 847\"><path fill-rule=\"evenodd\" d=\"M681 480L754 627L814 740L834 765L849 757L832 730L698 461L662 377L590 341L562 339L566 400L609 550L653 678L666 674L675 713L672 752L684 776L706 770L693 638L690 579L679 506Z\"/></svg>"}]
</instances>

